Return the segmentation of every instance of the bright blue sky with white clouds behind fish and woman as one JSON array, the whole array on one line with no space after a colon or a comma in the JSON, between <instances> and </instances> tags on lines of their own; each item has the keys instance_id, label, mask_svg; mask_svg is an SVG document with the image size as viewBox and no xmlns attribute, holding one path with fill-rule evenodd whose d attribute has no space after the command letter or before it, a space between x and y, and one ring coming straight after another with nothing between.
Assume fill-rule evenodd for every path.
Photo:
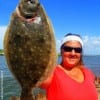
<instances>
[{"instance_id":1,"label":"bright blue sky with white clouds behind fish and woman","mask_svg":"<svg viewBox=\"0 0 100 100\"><path fill-rule=\"evenodd\" d=\"M100 55L100 0L40 0L55 32L56 47L67 33L81 35L84 54ZM19 0L0 0L0 49Z\"/></svg>"}]
</instances>

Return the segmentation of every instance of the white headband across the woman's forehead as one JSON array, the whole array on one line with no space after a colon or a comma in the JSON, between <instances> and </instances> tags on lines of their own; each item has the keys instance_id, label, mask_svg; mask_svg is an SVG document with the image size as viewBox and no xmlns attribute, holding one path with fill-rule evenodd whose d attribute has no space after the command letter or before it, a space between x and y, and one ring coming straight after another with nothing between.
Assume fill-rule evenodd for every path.
<instances>
[{"instance_id":1,"label":"white headband across the woman's forehead","mask_svg":"<svg viewBox=\"0 0 100 100\"><path fill-rule=\"evenodd\" d=\"M68 42L68 41L78 41L78 42L80 42L80 44L81 44L82 47L83 47L83 41L82 41L82 39L81 39L79 36L76 36L76 35L69 35L69 36L64 37L63 40L61 41L61 46L62 46L64 43Z\"/></svg>"}]
</instances>

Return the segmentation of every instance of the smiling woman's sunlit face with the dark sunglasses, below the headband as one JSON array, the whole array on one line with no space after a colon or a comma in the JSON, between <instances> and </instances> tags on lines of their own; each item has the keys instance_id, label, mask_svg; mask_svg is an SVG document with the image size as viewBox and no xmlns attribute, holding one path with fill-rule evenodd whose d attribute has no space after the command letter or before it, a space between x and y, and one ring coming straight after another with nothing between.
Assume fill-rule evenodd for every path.
<instances>
[{"instance_id":1,"label":"smiling woman's sunlit face with the dark sunglasses, below the headband","mask_svg":"<svg viewBox=\"0 0 100 100\"><path fill-rule=\"evenodd\" d=\"M81 54L82 48L79 42L66 42L61 49L63 66L68 68L77 66L80 63Z\"/></svg>"}]
</instances>

